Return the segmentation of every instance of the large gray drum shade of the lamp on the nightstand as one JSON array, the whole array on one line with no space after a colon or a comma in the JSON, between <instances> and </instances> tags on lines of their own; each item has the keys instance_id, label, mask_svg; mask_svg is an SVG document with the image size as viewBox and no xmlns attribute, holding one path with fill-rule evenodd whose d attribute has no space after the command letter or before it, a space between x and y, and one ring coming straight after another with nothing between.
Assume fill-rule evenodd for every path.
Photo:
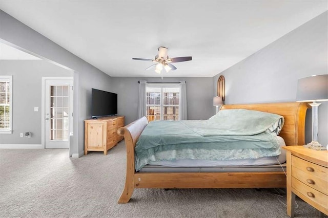
<instances>
[{"instance_id":1,"label":"large gray drum shade of the lamp on the nightstand","mask_svg":"<svg viewBox=\"0 0 328 218\"><path fill-rule=\"evenodd\" d=\"M299 79L296 101L328 101L328 74Z\"/></svg>"}]
</instances>

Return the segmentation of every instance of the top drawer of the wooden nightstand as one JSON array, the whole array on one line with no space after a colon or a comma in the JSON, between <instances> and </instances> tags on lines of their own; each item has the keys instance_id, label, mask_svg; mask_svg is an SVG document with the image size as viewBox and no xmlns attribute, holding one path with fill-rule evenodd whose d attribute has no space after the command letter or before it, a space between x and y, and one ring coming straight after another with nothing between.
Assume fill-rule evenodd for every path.
<instances>
[{"instance_id":1,"label":"top drawer of the wooden nightstand","mask_svg":"<svg viewBox=\"0 0 328 218\"><path fill-rule=\"evenodd\" d=\"M319 166L295 156L292 156L292 166L309 173L309 175L328 181L328 168L326 167Z\"/></svg>"}]
</instances>

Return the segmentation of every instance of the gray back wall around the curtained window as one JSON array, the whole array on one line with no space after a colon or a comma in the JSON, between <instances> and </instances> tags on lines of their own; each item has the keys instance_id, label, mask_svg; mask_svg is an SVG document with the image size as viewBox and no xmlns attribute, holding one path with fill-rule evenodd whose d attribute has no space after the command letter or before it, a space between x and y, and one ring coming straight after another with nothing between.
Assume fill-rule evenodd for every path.
<instances>
[{"instance_id":1,"label":"gray back wall around the curtained window","mask_svg":"<svg viewBox=\"0 0 328 218\"><path fill-rule=\"evenodd\" d=\"M214 115L212 78L166 78L158 77L111 77L111 89L117 93L118 113L126 116L125 123L131 123L137 119L139 83L138 80L148 82L179 82L186 81L187 110L189 120L204 120Z\"/></svg>"}]
</instances>

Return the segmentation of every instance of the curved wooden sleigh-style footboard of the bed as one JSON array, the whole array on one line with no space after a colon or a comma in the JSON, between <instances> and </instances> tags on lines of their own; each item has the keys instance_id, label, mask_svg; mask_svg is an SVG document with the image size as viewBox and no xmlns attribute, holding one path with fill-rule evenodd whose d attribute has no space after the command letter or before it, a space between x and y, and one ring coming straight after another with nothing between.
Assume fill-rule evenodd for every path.
<instances>
[{"instance_id":1,"label":"curved wooden sleigh-style footboard of the bed","mask_svg":"<svg viewBox=\"0 0 328 218\"><path fill-rule=\"evenodd\" d=\"M119 136L124 136L126 149L127 149L127 172L124 190L122 191L118 203L128 203L131 199L134 190L134 147L137 140L148 125L147 117L142 117L127 126L120 127L117 129Z\"/></svg>"}]
</instances>

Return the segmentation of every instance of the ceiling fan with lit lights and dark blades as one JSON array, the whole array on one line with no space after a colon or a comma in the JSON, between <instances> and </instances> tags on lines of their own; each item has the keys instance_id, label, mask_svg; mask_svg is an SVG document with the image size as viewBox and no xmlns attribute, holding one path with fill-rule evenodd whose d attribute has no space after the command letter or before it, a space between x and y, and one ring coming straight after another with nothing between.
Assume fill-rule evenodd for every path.
<instances>
[{"instance_id":1,"label":"ceiling fan with lit lights and dark blades","mask_svg":"<svg viewBox=\"0 0 328 218\"><path fill-rule=\"evenodd\" d=\"M150 66L149 68L146 68L147 70L150 70L155 67L155 72L160 74L162 69L164 68L166 72L169 72L170 70L176 70L176 67L174 67L173 64L171 63L176 63L176 62L182 62L182 61L188 61L191 60L192 58L189 57L172 57L169 58L168 56L168 48L166 47L159 47L158 48L158 55L155 56L155 59L145 59L145 58L132 58L133 60L146 60L146 61L153 61L157 62Z\"/></svg>"}]
</instances>

